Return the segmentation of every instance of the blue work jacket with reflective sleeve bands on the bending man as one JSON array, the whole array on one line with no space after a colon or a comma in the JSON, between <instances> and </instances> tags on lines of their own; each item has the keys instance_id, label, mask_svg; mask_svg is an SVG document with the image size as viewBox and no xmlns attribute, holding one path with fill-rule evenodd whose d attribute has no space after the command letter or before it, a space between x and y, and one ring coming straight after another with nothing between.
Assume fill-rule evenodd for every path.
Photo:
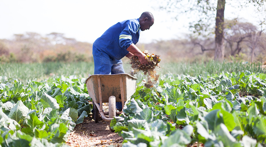
<instances>
[{"instance_id":1,"label":"blue work jacket with reflective sleeve bands on the bending man","mask_svg":"<svg viewBox=\"0 0 266 147\"><path fill-rule=\"evenodd\" d=\"M97 51L107 53L111 58L120 60L129 53L126 49L130 44L136 44L140 37L140 20L129 19L121 21L96 39L93 45Z\"/></svg>"}]
</instances>

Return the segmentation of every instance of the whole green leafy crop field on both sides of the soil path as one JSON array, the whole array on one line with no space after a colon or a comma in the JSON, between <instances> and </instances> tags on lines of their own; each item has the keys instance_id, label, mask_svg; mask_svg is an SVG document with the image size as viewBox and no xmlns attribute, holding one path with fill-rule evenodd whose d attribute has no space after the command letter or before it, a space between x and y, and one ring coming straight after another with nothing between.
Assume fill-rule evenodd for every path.
<instances>
[{"instance_id":1,"label":"whole green leafy crop field on both sides of the soil path","mask_svg":"<svg viewBox=\"0 0 266 147\"><path fill-rule=\"evenodd\" d=\"M137 74L124 114L111 121L124 147L266 146L264 69L241 63L164 68L152 88ZM0 145L67 146L67 136L92 109L87 77L61 71L18 79L12 72L0 75Z\"/></svg>"}]
</instances>

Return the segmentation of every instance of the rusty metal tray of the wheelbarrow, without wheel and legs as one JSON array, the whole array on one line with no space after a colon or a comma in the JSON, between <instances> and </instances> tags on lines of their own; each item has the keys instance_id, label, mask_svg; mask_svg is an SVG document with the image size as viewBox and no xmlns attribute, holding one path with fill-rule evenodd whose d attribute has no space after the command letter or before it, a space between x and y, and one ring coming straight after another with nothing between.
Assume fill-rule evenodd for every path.
<instances>
[{"instance_id":1,"label":"rusty metal tray of the wheelbarrow, without wheel and legs","mask_svg":"<svg viewBox=\"0 0 266 147\"><path fill-rule=\"evenodd\" d=\"M122 85L120 85L120 76L122 77ZM137 78L129 74L91 75L86 79L86 86L89 96L95 103L100 103L100 97L102 103L108 103L110 96L115 96L116 102L120 102L121 90L123 90L125 101L135 93L136 80ZM120 86L123 86L122 89Z\"/></svg>"}]
</instances>

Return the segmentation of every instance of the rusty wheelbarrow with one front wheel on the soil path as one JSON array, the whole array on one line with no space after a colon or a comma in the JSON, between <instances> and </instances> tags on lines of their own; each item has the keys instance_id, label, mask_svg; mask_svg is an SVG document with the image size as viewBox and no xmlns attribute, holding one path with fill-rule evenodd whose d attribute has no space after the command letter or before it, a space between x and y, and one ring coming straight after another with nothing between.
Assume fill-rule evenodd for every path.
<instances>
[{"instance_id":1,"label":"rusty wheelbarrow with one front wheel on the soil path","mask_svg":"<svg viewBox=\"0 0 266 147\"><path fill-rule=\"evenodd\" d=\"M136 91L137 78L129 74L90 75L85 83L89 96L93 100L93 115L95 123L98 123L98 112L104 121L111 122L116 117L116 102L125 101ZM99 104L98 104L99 103ZM103 103L108 103L108 117L103 113Z\"/></svg>"}]
</instances>

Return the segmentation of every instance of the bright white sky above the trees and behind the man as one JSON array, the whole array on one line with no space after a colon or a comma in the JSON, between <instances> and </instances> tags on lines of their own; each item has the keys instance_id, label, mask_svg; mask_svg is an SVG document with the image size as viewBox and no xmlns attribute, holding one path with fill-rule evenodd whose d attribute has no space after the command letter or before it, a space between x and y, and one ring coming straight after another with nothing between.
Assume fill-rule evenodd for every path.
<instances>
[{"instance_id":1,"label":"bright white sky above the trees and behind the man","mask_svg":"<svg viewBox=\"0 0 266 147\"><path fill-rule=\"evenodd\" d=\"M183 15L176 21L174 15L154 9L158 6L158 1L154 0L0 0L0 39L11 39L13 34L26 32L43 36L56 32L93 43L113 24L139 18L144 11L153 14L155 23L150 30L142 31L141 43L179 39L189 33L191 20ZM237 16L256 24L251 8L240 11L226 6L226 19Z\"/></svg>"}]
</instances>

